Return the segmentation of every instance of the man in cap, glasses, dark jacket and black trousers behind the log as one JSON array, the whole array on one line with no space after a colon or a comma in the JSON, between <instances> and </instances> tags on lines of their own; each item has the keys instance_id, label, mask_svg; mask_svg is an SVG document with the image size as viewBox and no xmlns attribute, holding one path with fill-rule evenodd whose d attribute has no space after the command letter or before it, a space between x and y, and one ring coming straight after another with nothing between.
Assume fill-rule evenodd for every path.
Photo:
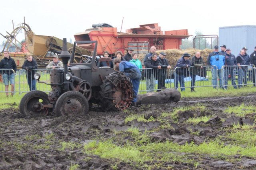
<instances>
[{"instance_id":1,"label":"man in cap, glasses, dark jacket and black trousers behind the log","mask_svg":"<svg viewBox=\"0 0 256 170\"><path fill-rule=\"evenodd\" d=\"M158 78L158 89L165 89L165 79L166 79L166 68L171 68L171 66L168 63L168 60L165 58L166 53L161 52L160 56L157 58L158 65L161 66L162 69L159 70L159 78ZM157 90L157 92L160 92L161 90Z\"/></svg>"}]
</instances>

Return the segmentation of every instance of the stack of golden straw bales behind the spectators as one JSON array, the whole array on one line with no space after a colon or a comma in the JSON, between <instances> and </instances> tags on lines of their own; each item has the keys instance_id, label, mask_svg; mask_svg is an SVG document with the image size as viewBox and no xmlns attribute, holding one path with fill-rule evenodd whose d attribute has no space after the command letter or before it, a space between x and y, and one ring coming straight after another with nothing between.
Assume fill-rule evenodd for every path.
<instances>
[{"instance_id":1,"label":"stack of golden straw bales behind the spectators","mask_svg":"<svg viewBox=\"0 0 256 170\"><path fill-rule=\"evenodd\" d=\"M201 53L201 57L204 59L204 65L207 65L207 57L210 53L213 52L211 49L204 49L204 50L199 50L199 49L194 49L194 48L189 48L185 50L180 50L180 49L167 49L167 50L159 50L156 51L156 54L159 56L160 52L164 51L166 53L166 59L168 60L170 66L172 66L172 69L175 67L175 65L178 62L178 59L184 54L184 53L189 53L191 55L190 59L195 55L197 51ZM143 59L144 59L145 54L139 54L138 59L141 61L143 64Z\"/></svg>"}]
</instances>

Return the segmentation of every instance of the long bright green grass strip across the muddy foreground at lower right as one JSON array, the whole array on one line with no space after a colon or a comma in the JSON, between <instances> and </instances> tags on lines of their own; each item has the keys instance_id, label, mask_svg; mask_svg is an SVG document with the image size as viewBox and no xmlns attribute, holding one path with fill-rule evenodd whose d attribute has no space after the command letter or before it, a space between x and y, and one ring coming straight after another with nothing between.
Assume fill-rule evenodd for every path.
<instances>
[{"instance_id":1,"label":"long bright green grass strip across the muddy foreground at lower right","mask_svg":"<svg viewBox=\"0 0 256 170\"><path fill-rule=\"evenodd\" d=\"M148 143L147 145L122 145L118 146L112 141L91 142L84 145L84 152L91 155L99 155L101 158L115 159L124 162L134 162L142 165L144 161L182 161L191 162L194 165L198 164L190 156L196 154L198 157L203 157L205 154L215 158L229 159L229 156L239 154L242 156L256 156L256 147L248 145L241 147L239 145L224 145L220 141L211 141L194 145L193 143L186 145L178 145L172 142L164 143ZM182 154L183 153L183 154ZM159 163L161 166L161 164Z\"/></svg>"}]
</instances>

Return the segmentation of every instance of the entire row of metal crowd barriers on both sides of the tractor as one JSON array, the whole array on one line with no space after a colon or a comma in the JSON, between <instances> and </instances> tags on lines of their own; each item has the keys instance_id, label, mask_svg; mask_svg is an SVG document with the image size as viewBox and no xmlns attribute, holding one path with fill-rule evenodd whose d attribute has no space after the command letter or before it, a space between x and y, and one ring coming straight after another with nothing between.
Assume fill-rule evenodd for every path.
<instances>
[{"instance_id":1,"label":"entire row of metal crowd barriers on both sides of the tractor","mask_svg":"<svg viewBox=\"0 0 256 170\"><path fill-rule=\"evenodd\" d=\"M153 92L160 91L164 88L175 88L181 89L185 88L196 88L196 87L208 87L212 86L214 88L224 88L227 89L228 86L233 86L236 88L253 84L256 82L256 76L252 78L252 75L256 75L256 69L254 65L244 65L238 69L239 66L223 66L222 69L218 70L216 66L204 66L203 68L189 67L180 68L177 67L175 70L161 68L142 68L142 76L140 80L139 92ZM199 71L200 70L200 71ZM233 70L233 71L232 71ZM4 73L9 72L9 74L14 71L12 69L0 69L0 74L2 75L2 80L4 80ZM35 69L35 72L40 72L41 81L50 83L50 69ZM28 72L30 74L30 79L27 79L27 70L21 69L14 74L14 94L19 92L22 94L24 92L29 92L30 88L33 90L41 90L44 92L50 92L50 85L44 83L36 83L32 77L34 77L34 72ZM246 75L246 76L244 76ZM218 81L219 78L219 81ZM180 83L180 86L178 85ZM34 84L33 84L34 83ZM30 85L30 86L29 86ZM18 87L18 89L16 89ZM12 87L9 86L6 89L4 82L0 88L0 92L12 92Z\"/></svg>"}]
</instances>

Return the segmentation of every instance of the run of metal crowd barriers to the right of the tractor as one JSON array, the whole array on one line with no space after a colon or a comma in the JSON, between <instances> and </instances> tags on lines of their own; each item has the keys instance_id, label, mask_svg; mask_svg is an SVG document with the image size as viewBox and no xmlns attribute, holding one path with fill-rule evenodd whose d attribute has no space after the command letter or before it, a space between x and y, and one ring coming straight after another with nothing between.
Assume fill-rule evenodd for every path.
<instances>
[{"instance_id":1,"label":"run of metal crowd barriers to the right of the tractor","mask_svg":"<svg viewBox=\"0 0 256 170\"><path fill-rule=\"evenodd\" d=\"M231 78L225 79L225 74L227 76L231 76L230 74L227 75L227 72L224 68L228 67L238 67L238 66L223 66L222 69L217 69L216 66L203 66L203 68L197 67L188 67L188 68L180 68L176 67L175 70L171 69L152 69L152 68L142 68L142 78L140 80L140 88L139 92L153 92L157 90L164 89L163 87L167 88L175 88L181 89L184 91L185 88L197 88L197 87L210 87L219 89L223 88L226 89L227 86L233 86ZM250 68L251 67L251 68ZM252 74L256 75L256 69L254 65L244 65L244 71L246 72L246 79L244 83L238 83L238 76L240 75L234 71L234 77L236 81L236 85L239 87L242 85L249 85L253 84ZM162 75L162 70L164 71L164 76ZM236 69L234 69L236 70ZM151 78L151 75L153 77ZM255 82L256 82L256 77ZM228 81L226 81L228 80ZM225 83L226 81L226 83ZM162 82L162 83L161 83Z\"/></svg>"}]
</instances>

